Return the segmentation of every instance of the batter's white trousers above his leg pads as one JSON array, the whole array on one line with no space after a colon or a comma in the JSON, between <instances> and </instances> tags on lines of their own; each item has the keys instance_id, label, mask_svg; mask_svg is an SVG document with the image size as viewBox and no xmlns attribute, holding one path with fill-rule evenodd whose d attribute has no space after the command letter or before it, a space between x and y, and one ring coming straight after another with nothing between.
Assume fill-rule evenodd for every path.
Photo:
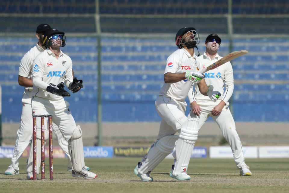
<instances>
[{"instance_id":1,"label":"batter's white trousers above his leg pads","mask_svg":"<svg viewBox=\"0 0 289 193\"><path fill-rule=\"evenodd\" d=\"M187 103L174 100L170 97L158 96L155 102L157 113L162 118L157 139L174 135L180 131L182 124L188 120L185 115Z\"/></svg>"}]
</instances>

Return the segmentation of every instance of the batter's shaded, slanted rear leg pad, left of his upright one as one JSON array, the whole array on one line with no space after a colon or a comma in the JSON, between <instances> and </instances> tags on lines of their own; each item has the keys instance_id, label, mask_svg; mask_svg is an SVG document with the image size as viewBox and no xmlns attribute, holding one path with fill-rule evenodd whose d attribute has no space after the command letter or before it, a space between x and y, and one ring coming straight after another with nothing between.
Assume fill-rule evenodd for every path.
<instances>
[{"instance_id":1,"label":"batter's shaded, slanted rear leg pad, left of his upright one","mask_svg":"<svg viewBox=\"0 0 289 193\"><path fill-rule=\"evenodd\" d=\"M157 140L144 157L144 162L142 162L142 165L138 169L138 173L148 173L157 167L167 155L172 153L178 138L179 136L176 135L168 135Z\"/></svg>"}]
</instances>

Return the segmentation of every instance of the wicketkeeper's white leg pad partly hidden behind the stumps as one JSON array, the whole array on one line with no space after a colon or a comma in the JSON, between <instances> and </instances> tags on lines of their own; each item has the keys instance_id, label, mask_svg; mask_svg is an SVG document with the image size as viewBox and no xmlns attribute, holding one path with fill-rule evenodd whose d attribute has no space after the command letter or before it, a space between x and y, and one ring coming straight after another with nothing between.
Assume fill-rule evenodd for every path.
<instances>
[{"instance_id":1,"label":"wicketkeeper's white leg pad partly hidden behind the stumps","mask_svg":"<svg viewBox=\"0 0 289 193\"><path fill-rule=\"evenodd\" d=\"M48 130L44 130L44 144L48 139ZM41 129L36 130L36 173L39 174L39 167L41 166ZM27 160L26 172L33 171L33 142L31 142L29 157Z\"/></svg>"}]
</instances>

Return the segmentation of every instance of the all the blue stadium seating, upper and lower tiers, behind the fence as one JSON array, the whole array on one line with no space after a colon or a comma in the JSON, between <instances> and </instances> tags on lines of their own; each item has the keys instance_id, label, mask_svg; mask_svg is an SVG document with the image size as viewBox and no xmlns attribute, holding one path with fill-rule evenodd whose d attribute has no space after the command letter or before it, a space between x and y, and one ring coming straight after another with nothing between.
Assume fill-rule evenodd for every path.
<instances>
[{"instance_id":1,"label":"all the blue stadium seating, upper and lower tiers, behind the fence","mask_svg":"<svg viewBox=\"0 0 289 193\"><path fill-rule=\"evenodd\" d=\"M232 99L236 121L289 121L286 116L289 103L289 40L278 36L280 33L288 34L287 4L284 0L232 1L233 32L239 35L233 40L232 49L249 51L232 61L235 79ZM180 26L194 24L202 34L228 34L228 0L200 0L197 3L191 0L99 0L99 8L102 33L175 34ZM104 121L160 120L154 100L163 84L166 58L176 50L173 40L102 38L101 88L98 88L98 47L93 15L96 12L95 0L0 1L0 12L2 34L31 33L35 31L36 24L48 21L61 26L59 30L67 34L67 46L62 50L73 60L75 76L83 79L85 85L83 90L66 98L73 104L70 108L77 121L96 121L95 107L100 89ZM47 19L42 14L57 16ZM126 14L136 16L127 17ZM208 17L211 14L216 15ZM250 14L253 14L252 18L245 17ZM263 17L269 14L279 15ZM286 17L280 17L280 14L286 14ZM179 18L176 15L183 16ZM184 15L194 16L184 19ZM73 37L73 33L92 35ZM247 38L248 34L268 33L273 36ZM242 34L247 36L243 38ZM201 38L198 46L200 54L204 53L204 37ZM9 109L5 110L2 120L18 122L24 91L17 81L19 63L36 44L36 39L35 36L4 35L0 37L0 44L2 109ZM228 54L228 45L229 41L222 38L218 53L222 56ZM276 115L270 116L268 111L277 107ZM121 113L116 111L119 115L112 118L111 111L116 108ZM258 108L261 111L257 111Z\"/></svg>"}]
</instances>

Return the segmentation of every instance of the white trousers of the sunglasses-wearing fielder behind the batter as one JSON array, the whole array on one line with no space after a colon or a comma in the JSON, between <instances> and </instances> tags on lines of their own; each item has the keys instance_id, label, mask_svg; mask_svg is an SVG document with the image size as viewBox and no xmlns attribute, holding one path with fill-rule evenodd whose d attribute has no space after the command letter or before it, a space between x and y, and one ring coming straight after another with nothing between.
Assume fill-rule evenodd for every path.
<instances>
[{"instance_id":1,"label":"white trousers of the sunglasses-wearing fielder behind the batter","mask_svg":"<svg viewBox=\"0 0 289 193\"><path fill-rule=\"evenodd\" d=\"M200 130L200 128L204 125L209 116L212 117L219 125L219 128L221 129L224 138L231 146L237 168L247 167L247 165L245 164L242 144L236 131L235 121L229 107L225 105L219 115L213 116L211 114L211 110L217 104L219 104L219 101L213 102L211 100L199 100L197 101L197 104L202 109L200 116L196 116L192 111L190 111L188 118L195 117L199 119Z\"/></svg>"}]
</instances>

